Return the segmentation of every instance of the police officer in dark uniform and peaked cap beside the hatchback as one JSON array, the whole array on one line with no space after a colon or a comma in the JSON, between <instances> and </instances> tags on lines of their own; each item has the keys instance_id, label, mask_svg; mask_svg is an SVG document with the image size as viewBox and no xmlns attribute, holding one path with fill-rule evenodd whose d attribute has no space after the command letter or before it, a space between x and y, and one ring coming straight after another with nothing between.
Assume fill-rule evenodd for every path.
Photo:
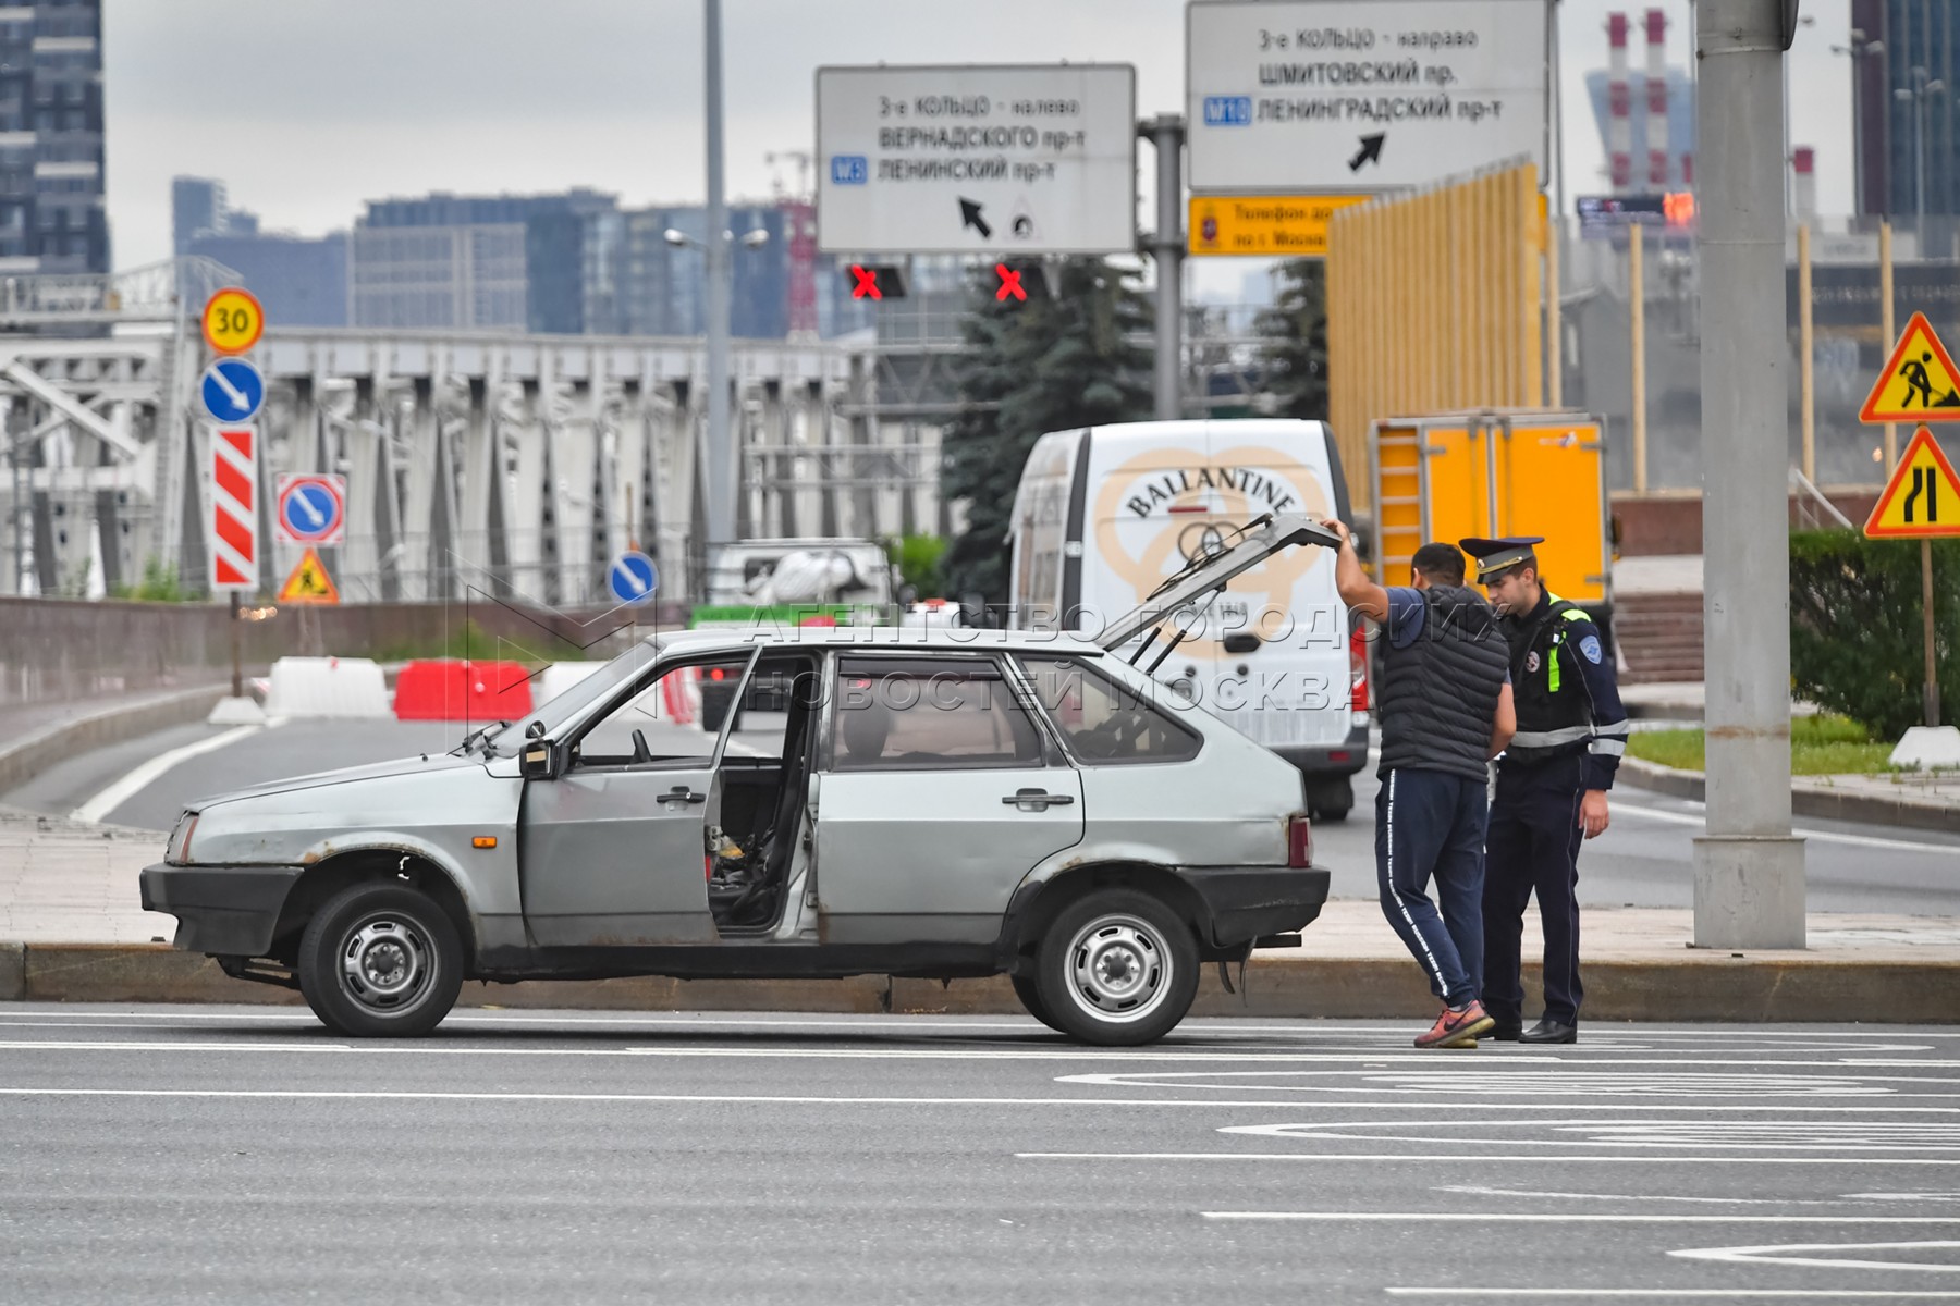
<instances>
[{"instance_id":1,"label":"police officer in dark uniform and peaked cap beside the hatchback","mask_svg":"<svg viewBox=\"0 0 1960 1306\"><path fill-rule=\"evenodd\" d=\"M1580 842L1607 826L1607 789L1627 752L1627 711L1599 629L1544 587L1544 536L1462 540L1511 646L1517 734L1497 760L1484 877L1484 1004L1490 1038L1580 1038ZM1525 903L1544 924L1544 1018L1523 1028L1519 940Z\"/></svg>"}]
</instances>

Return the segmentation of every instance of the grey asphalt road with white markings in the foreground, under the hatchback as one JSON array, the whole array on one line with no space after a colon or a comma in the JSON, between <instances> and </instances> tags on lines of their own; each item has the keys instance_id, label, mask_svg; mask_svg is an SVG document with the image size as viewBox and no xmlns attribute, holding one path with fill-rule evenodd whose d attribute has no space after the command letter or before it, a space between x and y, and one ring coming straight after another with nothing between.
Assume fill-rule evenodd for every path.
<instances>
[{"instance_id":1,"label":"grey asphalt road with white markings in the foreground, under the hatchback","mask_svg":"<svg viewBox=\"0 0 1960 1306\"><path fill-rule=\"evenodd\" d=\"M0 1296L1960 1300L1960 1034L0 1006Z\"/></svg>"}]
</instances>

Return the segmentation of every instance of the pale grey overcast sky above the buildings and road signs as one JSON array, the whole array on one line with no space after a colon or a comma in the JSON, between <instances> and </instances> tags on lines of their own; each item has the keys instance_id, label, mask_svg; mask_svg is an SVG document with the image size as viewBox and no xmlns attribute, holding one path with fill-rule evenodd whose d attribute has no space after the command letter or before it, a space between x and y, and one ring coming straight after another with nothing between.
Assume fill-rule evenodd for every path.
<instances>
[{"instance_id":1,"label":"pale grey overcast sky above the buildings and road signs","mask_svg":"<svg viewBox=\"0 0 1960 1306\"><path fill-rule=\"evenodd\" d=\"M1654 2L1670 14L1670 63L1690 65L1688 0ZM1603 188L1582 76L1605 67L1605 16L1648 4L1564 0L1568 196ZM118 268L169 257L176 174L216 176L269 229L304 235L347 227L363 200L429 190L702 198L700 0L102 8ZM1819 208L1842 213L1850 84L1831 45L1846 39L1848 0L1803 10L1815 25L1791 57L1793 139L1817 147ZM1141 114L1182 110L1184 0L723 0L723 29L731 198L766 198L778 174L796 184L796 164L766 155L811 149L811 80L825 63L1131 63ZM1149 147L1139 163L1149 184Z\"/></svg>"}]
</instances>

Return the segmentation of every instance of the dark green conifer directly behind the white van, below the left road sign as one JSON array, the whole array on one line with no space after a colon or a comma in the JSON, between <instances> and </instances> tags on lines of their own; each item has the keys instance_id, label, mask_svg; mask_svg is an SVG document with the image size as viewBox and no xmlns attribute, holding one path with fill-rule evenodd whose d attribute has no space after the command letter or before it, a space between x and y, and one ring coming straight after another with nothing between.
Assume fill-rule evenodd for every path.
<instances>
[{"instance_id":1,"label":"dark green conifer directly behind the white van, below the left road sign","mask_svg":"<svg viewBox=\"0 0 1960 1306\"><path fill-rule=\"evenodd\" d=\"M1029 270L1025 276L1039 276ZM1151 309L1133 276L1102 258L1058 264L1054 298L994 298L994 270L968 290L968 352L955 370L960 415L947 427L941 493L966 499L966 531L943 568L955 595L1007 599L1007 535L1027 452L1047 431L1151 415Z\"/></svg>"}]
</instances>

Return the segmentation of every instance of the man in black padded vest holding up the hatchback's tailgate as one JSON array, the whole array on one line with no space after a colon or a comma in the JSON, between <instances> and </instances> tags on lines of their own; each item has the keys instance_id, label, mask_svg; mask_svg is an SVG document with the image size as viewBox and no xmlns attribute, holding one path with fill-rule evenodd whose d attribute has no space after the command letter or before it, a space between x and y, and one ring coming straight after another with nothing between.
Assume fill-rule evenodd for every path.
<instances>
[{"instance_id":1,"label":"man in black padded vest holding up the hatchback's tailgate","mask_svg":"<svg viewBox=\"0 0 1960 1306\"><path fill-rule=\"evenodd\" d=\"M1515 724L1509 656L1497 615L1464 587L1464 556L1452 544L1423 544L1411 562L1415 583L1384 589L1360 570L1348 529L1327 525L1341 536L1341 599L1384 630L1376 883L1382 914L1443 1001L1435 1026L1415 1046L1476 1048L1476 1036L1492 1028L1478 1001L1486 766Z\"/></svg>"}]
</instances>

